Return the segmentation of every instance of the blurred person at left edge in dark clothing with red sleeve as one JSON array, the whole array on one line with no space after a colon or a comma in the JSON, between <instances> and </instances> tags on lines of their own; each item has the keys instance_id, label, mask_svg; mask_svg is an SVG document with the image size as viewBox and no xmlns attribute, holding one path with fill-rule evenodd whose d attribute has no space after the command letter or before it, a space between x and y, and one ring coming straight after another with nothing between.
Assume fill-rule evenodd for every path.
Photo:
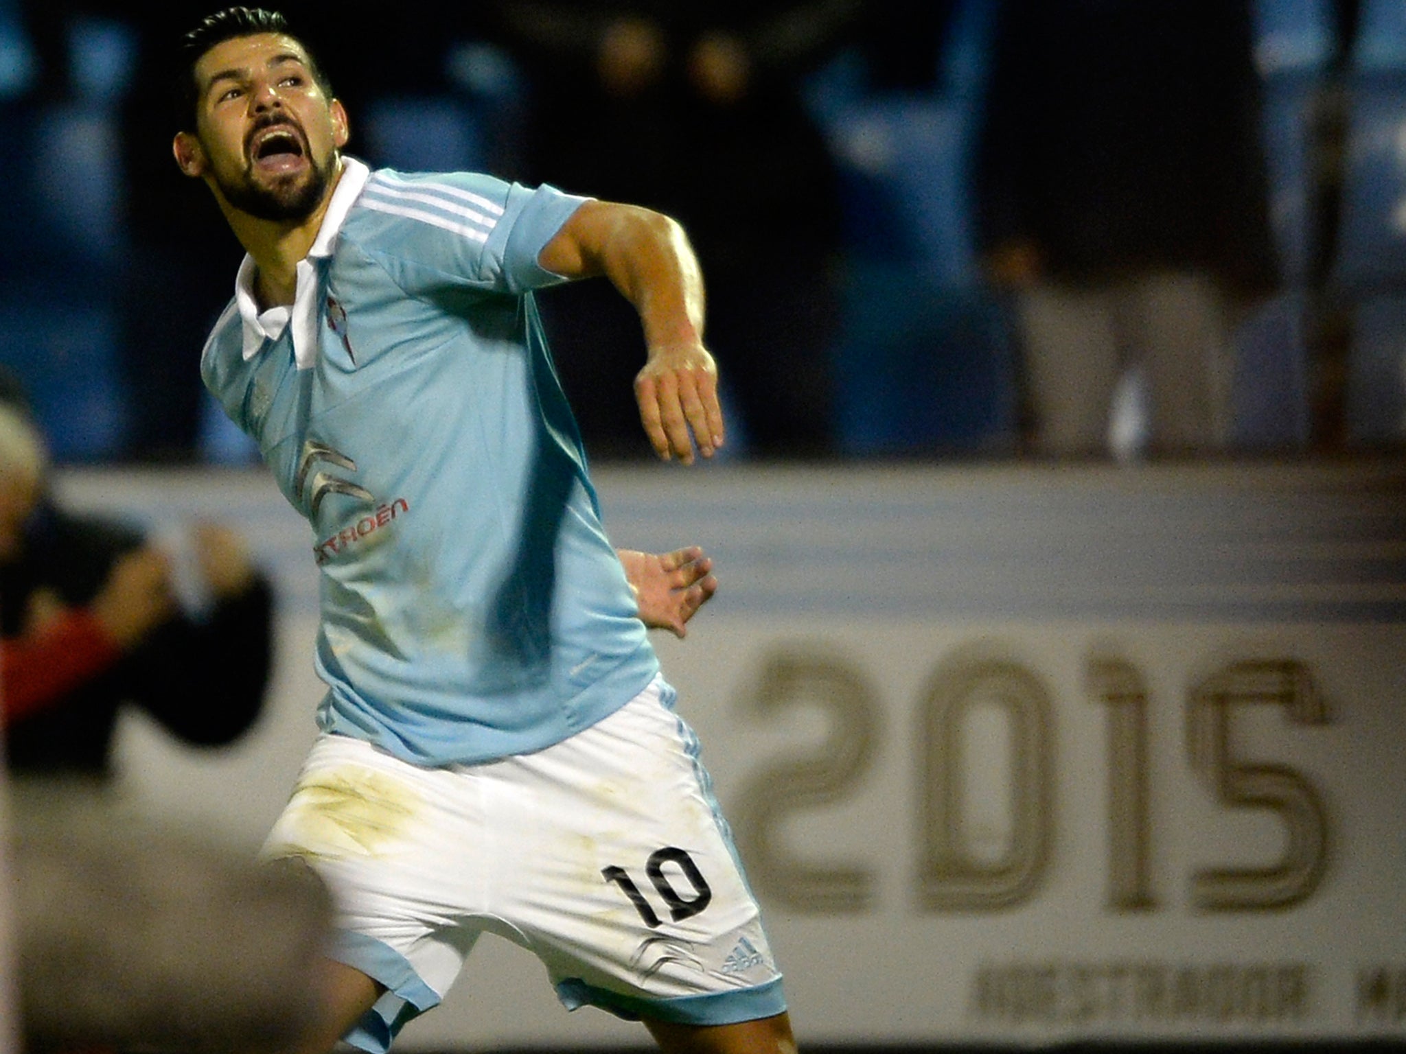
<instances>
[{"instance_id":1,"label":"blurred person at left edge in dark clothing with red sleeve","mask_svg":"<svg viewBox=\"0 0 1406 1054\"><path fill-rule=\"evenodd\" d=\"M259 717L273 594L242 538L191 534L208 614L174 599L167 555L132 527L62 509L13 382L0 391L0 718L14 776L110 774L118 710L221 745Z\"/></svg>"}]
</instances>

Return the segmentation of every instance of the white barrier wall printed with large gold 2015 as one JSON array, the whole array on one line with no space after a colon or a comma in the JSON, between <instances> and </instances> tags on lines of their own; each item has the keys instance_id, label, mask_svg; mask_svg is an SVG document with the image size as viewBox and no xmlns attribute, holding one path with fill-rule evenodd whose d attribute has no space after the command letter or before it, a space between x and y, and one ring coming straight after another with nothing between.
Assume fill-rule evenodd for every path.
<instances>
[{"instance_id":1,"label":"white barrier wall printed with large gold 2015","mask_svg":"<svg viewBox=\"0 0 1406 1054\"><path fill-rule=\"evenodd\" d=\"M166 535L233 523L276 572L254 732L121 743L142 808L253 852L321 696L309 531L260 472L60 482ZM1406 1037L1406 469L598 483L617 544L717 558L658 648L803 1043ZM405 1046L644 1039L489 937Z\"/></svg>"}]
</instances>

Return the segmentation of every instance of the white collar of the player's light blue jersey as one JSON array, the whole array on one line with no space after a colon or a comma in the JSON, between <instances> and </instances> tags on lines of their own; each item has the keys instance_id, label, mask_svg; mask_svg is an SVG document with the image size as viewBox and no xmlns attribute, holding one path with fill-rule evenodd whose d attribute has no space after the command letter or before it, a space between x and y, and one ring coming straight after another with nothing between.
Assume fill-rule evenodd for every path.
<instances>
[{"instance_id":1,"label":"white collar of the player's light blue jersey","mask_svg":"<svg viewBox=\"0 0 1406 1054\"><path fill-rule=\"evenodd\" d=\"M326 215L322 216L318 238L308 254L298 260L298 285L291 309L280 305L264 312L259 311L259 302L254 299L254 260L245 254L235 278L235 304L239 305L239 316L245 323L246 363L259 354L266 340L277 340L283 336L283 330L290 322L292 322L292 358L298 368L308 370L316 361L318 282L312 260L332 256L342 225L346 222L347 212L352 211L352 202L360 197L370 176L371 170L364 163L356 157L342 156L342 178L337 180L336 190L332 191L332 201L328 202Z\"/></svg>"}]
</instances>

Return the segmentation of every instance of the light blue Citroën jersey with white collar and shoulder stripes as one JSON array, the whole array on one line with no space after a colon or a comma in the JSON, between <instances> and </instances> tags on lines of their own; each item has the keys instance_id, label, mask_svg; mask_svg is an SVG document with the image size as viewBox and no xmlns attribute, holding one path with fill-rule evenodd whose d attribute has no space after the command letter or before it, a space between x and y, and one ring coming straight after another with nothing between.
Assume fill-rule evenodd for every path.
<instances>
[{"instance_id":1,"label":"light blue Citro\u00ebn jersey with white collar and shoulder stripes","mask_svg":"<svg viewBox=\"0 0 1406 1054\"><path fill-rule=\"evenodd\" d=\"M319 727L415 765L538 750L658 672L531 295L582 200L344 166L291 311L257 315L246 260L205 384L312 524Z\"/></svg>"}]
</instances>

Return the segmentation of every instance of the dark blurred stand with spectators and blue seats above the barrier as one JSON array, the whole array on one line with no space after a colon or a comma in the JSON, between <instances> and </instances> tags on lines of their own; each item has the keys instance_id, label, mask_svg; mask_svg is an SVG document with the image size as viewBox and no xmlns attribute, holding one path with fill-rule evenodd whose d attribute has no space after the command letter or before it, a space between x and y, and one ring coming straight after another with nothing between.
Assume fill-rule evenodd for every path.
<instances>
[{"instance_id":1,"label":"dark blurred stand with spectators and blue seats above the barrier","mask_svg":"<svg viewBox=\"0 0 1406 1054\"><path fill-rule=\"evenodd\" d=\"M676 215L728 457L1333 457L1406 440L1406 0L280 6L350 152ZM240 250L170 159L180 4L0 0L0 364L60 464L249 464ZM603 282L543 297L647 458Z\"/></svg>"}]
</instances>

